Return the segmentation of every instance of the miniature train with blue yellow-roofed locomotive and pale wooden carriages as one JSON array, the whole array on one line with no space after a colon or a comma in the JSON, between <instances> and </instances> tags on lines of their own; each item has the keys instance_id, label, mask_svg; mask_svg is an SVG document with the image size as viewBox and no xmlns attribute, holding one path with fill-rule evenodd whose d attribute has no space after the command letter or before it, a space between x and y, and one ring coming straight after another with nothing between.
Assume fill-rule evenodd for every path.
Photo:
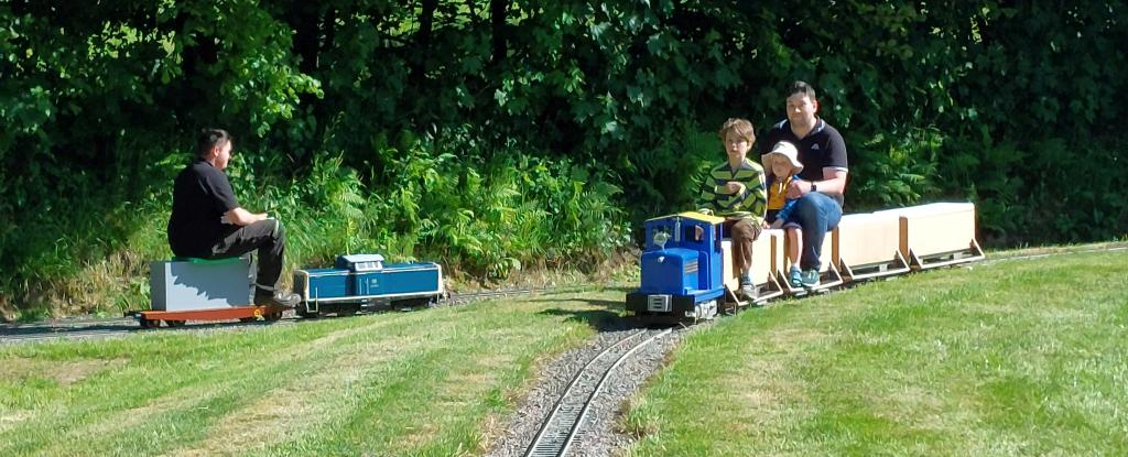
<instances>
[{"instance_id":1,"label":"miniature train with blue yellow-roofed locomotive and pale wooden carriages","mask_svg":"<svg viewBox=\"0 0 1128 457\"><path fill-rule=\"evenodd\" d=\"M750 304L735 296L739 284L724 219L682 212L644 223L642 280L627 293L626 308L646 320L710 319ZM820 281L794 288L783 230L764 230L752 244L755 304L799 296L873 278L973 262L984 258L976 241L972 203L918 206L845 214L822 245Z\"/></svg>"}]
</instances>

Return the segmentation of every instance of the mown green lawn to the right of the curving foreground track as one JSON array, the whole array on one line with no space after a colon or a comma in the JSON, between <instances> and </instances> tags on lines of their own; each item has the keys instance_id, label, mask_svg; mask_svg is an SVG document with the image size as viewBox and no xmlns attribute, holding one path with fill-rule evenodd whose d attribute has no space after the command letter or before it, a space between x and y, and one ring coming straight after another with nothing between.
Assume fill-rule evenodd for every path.
<instances>
[{"instance_id":1,"label":"mown green lawn to the right of the curving foreground track","mask_svg":"<svg viewBox=\"0 0 1128 457\"><path fill-rule=\"evenodd\" d=\"M638 456L1128 455L1128 252L946 269L703 328Z\"/></svg>"}]
</instances>

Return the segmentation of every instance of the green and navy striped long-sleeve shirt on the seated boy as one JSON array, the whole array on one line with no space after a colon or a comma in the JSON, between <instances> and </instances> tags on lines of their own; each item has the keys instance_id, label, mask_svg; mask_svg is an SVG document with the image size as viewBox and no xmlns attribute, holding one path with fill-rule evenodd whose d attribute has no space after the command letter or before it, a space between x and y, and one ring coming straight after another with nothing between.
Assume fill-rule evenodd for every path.
<instances>
[{"instance_id":1,"label":"green and navy striped long-sleeve shirt on the seated boy","mask_svg":"<svg viewBox=\"0 0 1128 457\"><path fill-rule=\"evenodd\" d=\"M725 184L739 182L744 185L740 194L729 193ZM767 188L764 186L764 167L744 159L740 169L733 172L725 161L710 170L702 183L702 193L697 197L697 209L729 218L750 218L757 225L764 223L767 210Z\"/></svg>"}]
</instances>

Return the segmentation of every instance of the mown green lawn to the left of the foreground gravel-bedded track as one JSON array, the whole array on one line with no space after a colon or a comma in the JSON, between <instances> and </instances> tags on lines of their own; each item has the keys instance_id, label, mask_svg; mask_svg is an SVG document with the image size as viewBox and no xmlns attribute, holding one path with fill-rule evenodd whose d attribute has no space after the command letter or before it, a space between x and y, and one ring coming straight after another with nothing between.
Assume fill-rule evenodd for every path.
<instances>
[{"instance_id":1,"label":"mown green lawn to the left of the foreground gravel-bedded track","mask_svg":"<svg viewBox=\"0 0 1128 457\"><path fill-rule=\"evenodd\" d=\"M622 295L0 345L0 456L481 454Z\"/></svg>"}]
</instances>

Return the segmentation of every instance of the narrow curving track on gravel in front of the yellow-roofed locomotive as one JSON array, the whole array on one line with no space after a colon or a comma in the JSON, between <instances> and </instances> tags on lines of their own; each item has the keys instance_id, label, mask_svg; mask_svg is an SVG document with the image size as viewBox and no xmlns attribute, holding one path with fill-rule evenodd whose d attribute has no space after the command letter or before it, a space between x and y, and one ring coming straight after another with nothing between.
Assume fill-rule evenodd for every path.
<instances>
[{"instance_id":1,"label":"narrow curving track on gravel in front of the yellow-roofed locomotive","mask_svg":"<svg viewBox=\"0 0 1128 457\"><path fill-rule=\"evenodd\" d=\"M525 455L527 457L567 455L583 430L583 420L592 402L598 398L615 369L631 354L670 332L671 328L634 332L592 358L564 389Z\"/></svg>"}]
</instances>

